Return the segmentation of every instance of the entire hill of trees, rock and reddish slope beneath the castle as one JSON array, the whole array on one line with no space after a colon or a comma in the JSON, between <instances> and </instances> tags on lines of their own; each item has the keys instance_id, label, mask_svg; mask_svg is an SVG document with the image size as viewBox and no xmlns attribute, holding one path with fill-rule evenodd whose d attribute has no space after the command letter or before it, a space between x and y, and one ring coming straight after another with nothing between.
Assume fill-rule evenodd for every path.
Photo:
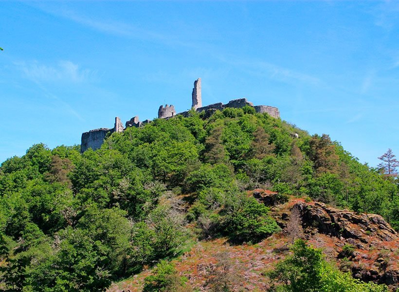
<instances>
[{"instance_id":1,"label":"entire hill of trees, rock and reddish slope beneath the castle","mask_svg":"<svg viewBox=\"0 0 399 292\"><path fill-rule=\"evenodd\" d=\"M1 164L0 289L218 291L239 277L233 291L262 291L295 251L319 255L315 284L328 291L396 289L397 181L328 135L245 105L104 138Z\"/></svg>"}]
</instances>

